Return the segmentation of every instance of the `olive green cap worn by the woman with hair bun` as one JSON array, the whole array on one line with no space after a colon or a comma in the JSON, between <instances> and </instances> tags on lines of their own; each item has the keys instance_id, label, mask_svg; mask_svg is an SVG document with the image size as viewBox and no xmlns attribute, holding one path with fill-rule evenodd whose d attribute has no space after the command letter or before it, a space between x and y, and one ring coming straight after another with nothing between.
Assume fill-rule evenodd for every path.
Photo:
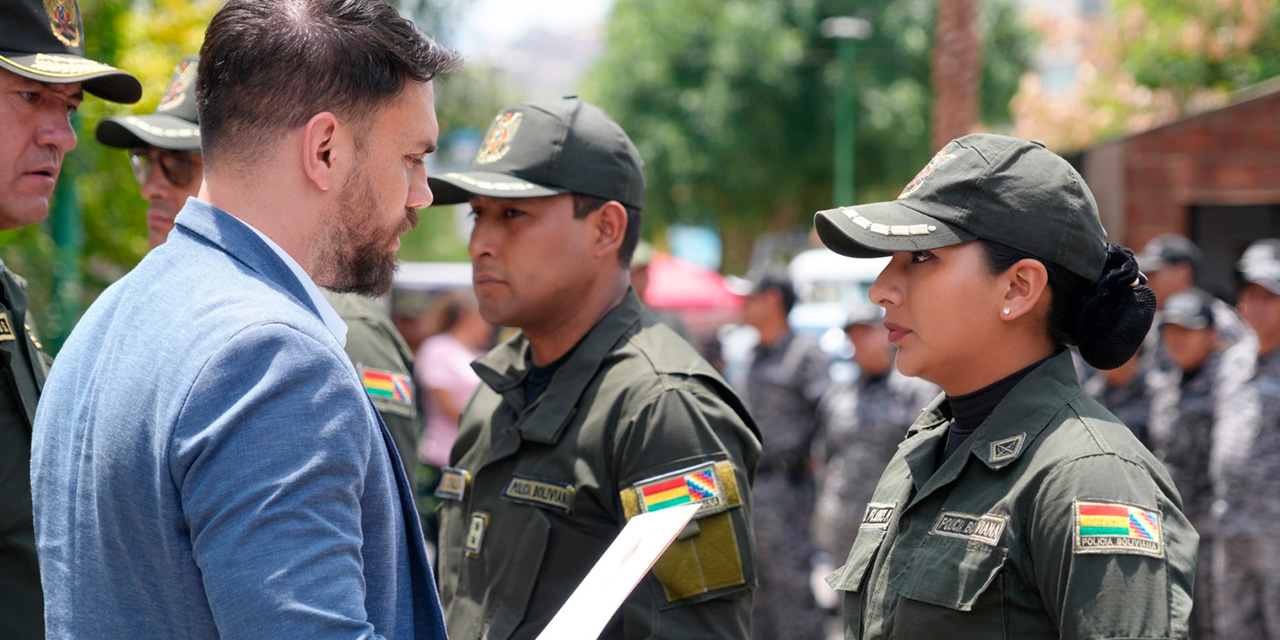
<instances>
[{"instance_id":1,"label":"olive green cap worn by the woman with hair bun","mask_svg":"<svg viewBox=\"0 0 1280 640\"><path fill-rule=\"evenodd\" d=\"M982 238L1089 282L1107 260L1098 205L1075 168L1038 141L991 133L947 143L897 200L818 211L814 225L827 247L851 257Z\"/></svg>"}]
</instances>

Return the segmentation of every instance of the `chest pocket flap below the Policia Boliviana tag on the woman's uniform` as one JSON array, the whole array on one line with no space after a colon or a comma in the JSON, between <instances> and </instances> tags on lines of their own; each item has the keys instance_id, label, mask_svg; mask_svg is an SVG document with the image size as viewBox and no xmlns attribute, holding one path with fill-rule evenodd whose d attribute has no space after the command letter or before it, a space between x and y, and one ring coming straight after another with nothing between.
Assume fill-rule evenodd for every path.
<instances>
[{"instance_id":1,"label":"chest pocket flap below the Policia Boliviana tag on the woman's uniform","mask_svg":"<svg viewBox=\"0 0 1280 640\"><path fill-rule=\"evenodd\" d=\"M988 544L925 538L890 588L911 600L970 611L996 581L1007 556L1006 549Z\"/></svg>"}]
</instances>

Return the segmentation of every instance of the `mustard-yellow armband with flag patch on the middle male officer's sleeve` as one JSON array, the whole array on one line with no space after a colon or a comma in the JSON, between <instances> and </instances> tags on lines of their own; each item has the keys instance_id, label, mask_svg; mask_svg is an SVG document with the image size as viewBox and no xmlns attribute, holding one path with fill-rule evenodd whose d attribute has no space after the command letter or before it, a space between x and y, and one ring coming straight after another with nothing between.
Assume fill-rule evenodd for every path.
<instances>
[{"instance_id":1,"label":"mustard-yellow armband with flag patch on the middle male officer's sleeve","mask_svg":"<svg viewBox=\"0 0 1280 640\"><path fill-rule=\"evenodd\" d=\"M668 602L746 581L730 513L742 504L731 462L707 462L640 480L620 495L627 520L680 504L699 504L695 520L653 567Z\"/></svg>"}]
</instances>

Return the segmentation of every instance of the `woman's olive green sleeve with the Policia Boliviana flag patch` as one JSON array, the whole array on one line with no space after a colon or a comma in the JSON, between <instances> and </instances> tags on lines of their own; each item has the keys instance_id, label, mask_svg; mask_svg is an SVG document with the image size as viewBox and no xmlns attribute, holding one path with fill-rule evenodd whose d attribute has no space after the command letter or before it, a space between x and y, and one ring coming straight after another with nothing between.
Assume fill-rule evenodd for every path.
<instances>
[{"instance_id":1,"label":"woman's olive green sleeve with the Policia Boliviana flag patch","mask_svg":"<svg viewBox=\"0 0 1280 640\"><path fill-rule=\"evenodd\" d=\"M1180 503L1116 454L1050 472L1023 535L1059 637L1187 637L1199 536Z\"/></svg>"}]
</instances>

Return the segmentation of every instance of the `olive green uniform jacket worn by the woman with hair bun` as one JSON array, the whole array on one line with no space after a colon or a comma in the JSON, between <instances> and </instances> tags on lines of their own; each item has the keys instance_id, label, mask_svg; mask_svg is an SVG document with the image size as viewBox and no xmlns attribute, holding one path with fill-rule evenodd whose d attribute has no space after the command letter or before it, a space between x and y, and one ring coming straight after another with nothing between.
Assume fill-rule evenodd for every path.
<instances>
[{"instance_id":1,"label":"olive green uniform jacket worn by the woman with hair bun","mask_svg":"<svg viewBox=\"0 0 1280 640\"><path fill-rule=\"evenodd\" d=\"M846 639L1187 637L1198 536L1068 353L937 466L948 421L945 397L916 420L828 577Z\"/></svg>"}]
</instances>

